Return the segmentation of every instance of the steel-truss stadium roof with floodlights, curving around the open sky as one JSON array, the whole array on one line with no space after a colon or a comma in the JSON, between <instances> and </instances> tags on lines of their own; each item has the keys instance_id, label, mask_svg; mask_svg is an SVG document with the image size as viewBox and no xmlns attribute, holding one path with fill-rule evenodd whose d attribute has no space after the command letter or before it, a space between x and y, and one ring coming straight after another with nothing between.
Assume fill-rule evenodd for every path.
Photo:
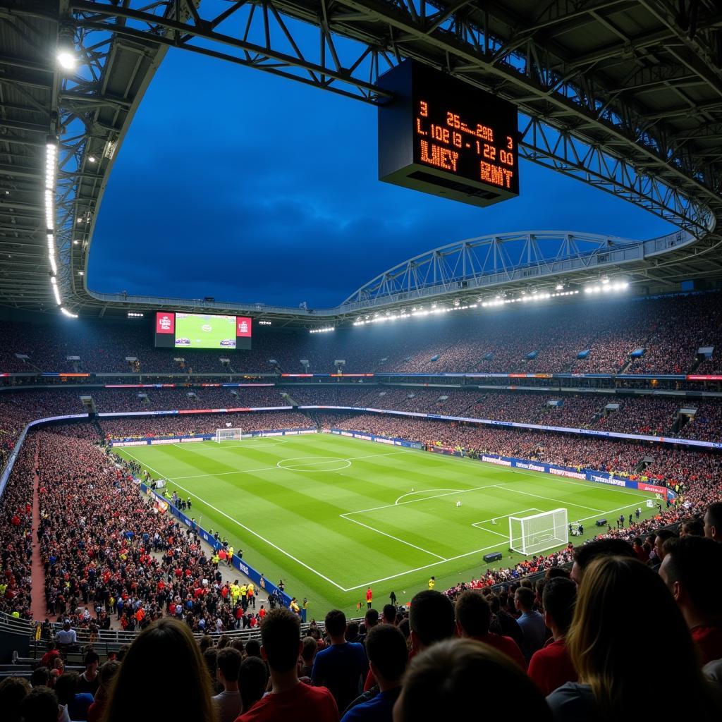
<instances>
[{"instance_id":1,"label":"steel-truss stadium roof with floodlights, curving around the open sky","mask_svg":"<svg viewBox=\"0 0 722 722\"><path fill-rule=\"evenodd\" d=\"M321 43L294 37L299 20L318 27ZM718 281L721 36L711 0L0 0L0 303L56 310L59 297L69 313L212 308L308 323L412 297L451 301L610 272L645 291ZM64 45L79 60L69 73L56 61ZM416 58L516 103L529 160L639 204L680 233L646 244L570 232L474 239L410 259L316 312L97 294L85 274L100 201L170 45L368 103L388 100L378 74ZM60 139L50 252L48 136Z\"/></svg>"}]
</instances>

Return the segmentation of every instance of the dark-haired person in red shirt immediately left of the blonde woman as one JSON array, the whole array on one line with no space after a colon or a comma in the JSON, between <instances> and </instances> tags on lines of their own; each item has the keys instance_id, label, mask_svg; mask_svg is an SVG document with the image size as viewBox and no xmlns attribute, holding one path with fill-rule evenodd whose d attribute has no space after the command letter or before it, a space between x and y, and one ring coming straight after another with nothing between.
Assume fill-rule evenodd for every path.
<instances>
[{"instance_id":1,"label":"dark-haired person in red shirt immediately left of the blonde woman","mask_svg":"<svg viewBox=\"0 0 722 722\"><path fill-rule=\"evenodd\" d=\"M576 598L577 586L571 579L552 577L544 584L541 597L544 624L552 631L552 639L534 652L529 661L529 677L544 696L551 695L565 682L577 681L577 671L565 641L574 616Z\"/></svg>"}]
</instances>

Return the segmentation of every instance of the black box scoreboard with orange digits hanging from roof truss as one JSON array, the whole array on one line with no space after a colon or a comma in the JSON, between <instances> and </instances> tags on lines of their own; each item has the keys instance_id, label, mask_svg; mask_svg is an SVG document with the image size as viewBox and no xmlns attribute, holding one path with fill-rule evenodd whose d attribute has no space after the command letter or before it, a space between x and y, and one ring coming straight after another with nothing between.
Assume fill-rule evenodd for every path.
<instances>
[{"instance_id":1,"label":"black box scoreboard with orange digits hanging from roof truss","mask_svg":"<svg viewBox=\"0 0 722 722\"><path fill-rule=\"evenodd\" d=\"M516 107L405 60L378 79L378 177L474 206L519 194Z\"/></svg>"}]
</instances>

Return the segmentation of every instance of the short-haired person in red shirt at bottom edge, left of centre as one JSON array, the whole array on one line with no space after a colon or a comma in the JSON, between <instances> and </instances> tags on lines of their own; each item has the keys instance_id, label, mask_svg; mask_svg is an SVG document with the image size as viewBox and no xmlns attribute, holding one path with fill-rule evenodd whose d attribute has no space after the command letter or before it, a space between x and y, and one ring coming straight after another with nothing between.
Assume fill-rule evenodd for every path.
<instances>
[{"instance_id":1,"label":"short-haired person in red shirt at bottom edge, left of centre","mask_svg":"<svg viewBox=\"0 0 722 722\"><path fill-rule=\"evenodd\" d=\"M331 692L326 687L309 687L298 679L303 642L297 615L285 607L271 609L261 624L261 644L261 655L271 671L271 692L236 722L338 722L339 708Z\"/></svg>"}]
</instances>

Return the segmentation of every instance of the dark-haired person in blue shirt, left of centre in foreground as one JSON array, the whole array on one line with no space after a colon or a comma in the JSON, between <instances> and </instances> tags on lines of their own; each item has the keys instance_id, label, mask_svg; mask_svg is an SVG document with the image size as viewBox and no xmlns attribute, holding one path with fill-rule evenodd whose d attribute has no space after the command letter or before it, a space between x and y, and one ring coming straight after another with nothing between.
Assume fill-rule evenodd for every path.
<instances>
[{"instance_id":1,"label":"dark-haired person in blue shirt, left of centre in foreground","mask_svg":"<svg viewBox=\"0 0 722 722\"><path fill-rule=\"evenodd\" d=\"M360 695L368 663L360 643L346 641L346 615L340 609L326 614L326 634L331 646L316 655L311 679L316 687L328 687L339 710Z\"/></svg>"}]
</instances>

